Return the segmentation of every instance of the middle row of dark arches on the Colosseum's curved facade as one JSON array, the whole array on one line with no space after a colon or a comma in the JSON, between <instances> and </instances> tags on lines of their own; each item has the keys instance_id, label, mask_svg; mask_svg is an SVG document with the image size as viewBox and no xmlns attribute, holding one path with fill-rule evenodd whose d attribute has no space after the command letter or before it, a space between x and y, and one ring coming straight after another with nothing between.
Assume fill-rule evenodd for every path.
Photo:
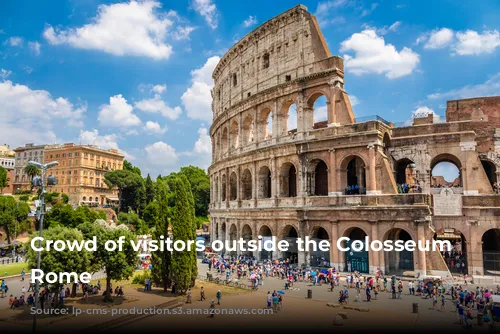
<instances>
[{"instance_id":1,"label":"middle row of dark arches on the Colosseum's curved facade","mask_svg":"<svg viewBox=\"0 0 500 334\"><path fill-rule=\"evenodd\" d=\"M314 159L310 162L309 176L307 177L307 193L311 196L328 196L328 166L322 159ZM358 193L363 193L366 188L365 163L359 156L349 156L341 164L343 167L344 183L349 187L358 186ZM299 193L299 172L292 162L283 163L278 169L278 197L297 197ZM235 171L225 173L215 177L214 201L234 201L250 200L254 197L254 187L257 187L256 198L271 198L272 193L272 173L268 166L261 166L257 171L257 184L255 185L250 168L245 168L241 172L240 181ZM229 187L229 188L228 188ZM220 188L220 190L219 190ZM229 191L229 194L227 194ZM227 197L229 196L229 197Z\"/></svg>"}]
</instances>

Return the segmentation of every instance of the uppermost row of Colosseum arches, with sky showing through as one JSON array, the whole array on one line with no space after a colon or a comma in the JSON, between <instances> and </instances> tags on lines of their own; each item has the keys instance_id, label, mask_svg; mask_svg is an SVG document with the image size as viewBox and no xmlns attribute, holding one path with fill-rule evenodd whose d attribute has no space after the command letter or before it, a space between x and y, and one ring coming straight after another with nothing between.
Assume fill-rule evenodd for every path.
<instances>
[{"instance_id":1,"label":"uppermost row of Colosseum arches, with sky showing through","mask_svg":"<svg viewBox=\"0 0 500 334\"><path fill-rule=\"evenodd\" d=\"M311 111L311 129L326 127L328 104L323 92L316 92L307 99L303 109ZM298 129L299 118L304 118L299 114L301 111L297 110L296 100L290 99L283 102L277 111L274 111L274 107L270 104L265 104L256 114L246 113L241 119L241 124L233 118L212 138L215 143L214 152L217 156L227 153L229 149L294 133ZM273 126L273 122L277 122L277 126Z\"/></svg>"}]
</instances>

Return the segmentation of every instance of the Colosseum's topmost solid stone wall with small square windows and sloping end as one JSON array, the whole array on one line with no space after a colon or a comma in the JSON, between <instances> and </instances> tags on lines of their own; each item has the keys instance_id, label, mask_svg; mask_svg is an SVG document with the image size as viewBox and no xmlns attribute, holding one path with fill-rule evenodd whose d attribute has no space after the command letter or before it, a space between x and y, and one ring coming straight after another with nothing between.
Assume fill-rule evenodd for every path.
<instances>
[{"instance_id":1,"label":"Colosseum's topmost solid stone wall with small square windows and sloping end","mask_svg":"<svg viewBox=\"0 0 500 334\"><path fill-rule=\"evenodd\" d=\"M298 5L236 43L213 72L214 118L238 102L282 83L338 68L316 18Z\"/></svg>"}]
</instances>

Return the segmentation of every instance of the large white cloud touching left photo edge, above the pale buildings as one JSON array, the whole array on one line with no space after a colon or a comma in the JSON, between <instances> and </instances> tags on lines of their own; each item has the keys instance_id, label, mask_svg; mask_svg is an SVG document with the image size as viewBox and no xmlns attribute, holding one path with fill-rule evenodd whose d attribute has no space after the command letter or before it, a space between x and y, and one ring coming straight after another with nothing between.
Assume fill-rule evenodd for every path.
<instances>
[{"instance_id":1,"label":"large white cloud touching left photo edge, above the pale buildings","mask_svg":"<svg viewBox=\"0 0 500 334\"><path fill-rule=\"evenodd\" d=\"M80 126L86 110L84 103L75 106L66 98L53 98L45 90L32 90L9 80L0 82L0 119L5 122L21 119L46 122L56 118Z\"/></svg>"}]
</instances>

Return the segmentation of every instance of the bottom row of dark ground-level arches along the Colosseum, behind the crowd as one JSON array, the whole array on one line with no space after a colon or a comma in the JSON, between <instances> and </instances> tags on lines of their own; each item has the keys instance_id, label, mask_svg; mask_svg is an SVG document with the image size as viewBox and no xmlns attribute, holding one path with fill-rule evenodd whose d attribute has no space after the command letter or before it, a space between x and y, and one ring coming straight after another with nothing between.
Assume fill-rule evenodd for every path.
<instances>
[{"instance_id":1,"label":"bottom row of dark ground-level arches along the Colosseum, behind the crowd","mask_svg":"<svg viewBox=\"0 0 500 334\"><path fill-rule=\"evenodd\" d=\"M220 225L219 225L220 224ZM226 240L226 229L227 225L225 222L216 223L214 235L217 240ZM280 254L280 258L288 259L291 263L298 263L299 261L299 253L298 248L296 246L296 238L299 237L299 232L296 226L294 225L285 225L279 233L273 233L273 230L270 226L263 224L259 227L257 235L253 235L254 232L249 224L244 224L241 228L240 237L249 241L253 238L256 238L257 235L262 236L262 240L265 241L267 238L271 238L273 236L278 237L279 240L287 240L290 247L287 252ZM321 240L329 240L332 243L330 238L330 233L322 227L322 226L314 226L309 231L309 237L313 240L319 242ZM229 240L237 240L238 239L238 228L236 224L231 224L229 227L229 233L227 234ZM349 227L343 233L342 236L348 237L350 241L348 244L344 244L344 247L349 247L350 243L355 240L364 241L367 236L367 232L362 227ZM434 235L436 238L437 235ZM460 252L467 254L467 246L466 240L463 234L461 234L461 245ZM384 233L384 237L382 241L385 240L402 240L408 241L413 240L416 241L415 237L412 236L412 232L406 230L405 228L393 227ZM493 228L485 231L481 237L482 242L482 254L483 254L483 269L484 274L486 275L500 275L500 228ZM233 254L235 254L233 252ZM246 256L256 256L256 254L247 252L246 254L242 254ZM322 251L312 251L309 254L309 264L312 266L330 266L330 253L322 252ZM260 254L257 254L257 257L261 260L271 260L275 259L276 254L272 254L270 252L262 251ZM370 268L369 263L369 254L368 251L350 251L344 252L343 254L344 261L344 270L354 271L358 270L362 273L368 273ZM385 273L401 273L403 271L413 271L416 268L416 257L414 252L402 251L402 252L384 252L384 272ZM452 269L452 268L450 268ZM453 270L452 270L453 271ZM467 273L467 267L465 272Z\"/></svg>"}]
</instances>

